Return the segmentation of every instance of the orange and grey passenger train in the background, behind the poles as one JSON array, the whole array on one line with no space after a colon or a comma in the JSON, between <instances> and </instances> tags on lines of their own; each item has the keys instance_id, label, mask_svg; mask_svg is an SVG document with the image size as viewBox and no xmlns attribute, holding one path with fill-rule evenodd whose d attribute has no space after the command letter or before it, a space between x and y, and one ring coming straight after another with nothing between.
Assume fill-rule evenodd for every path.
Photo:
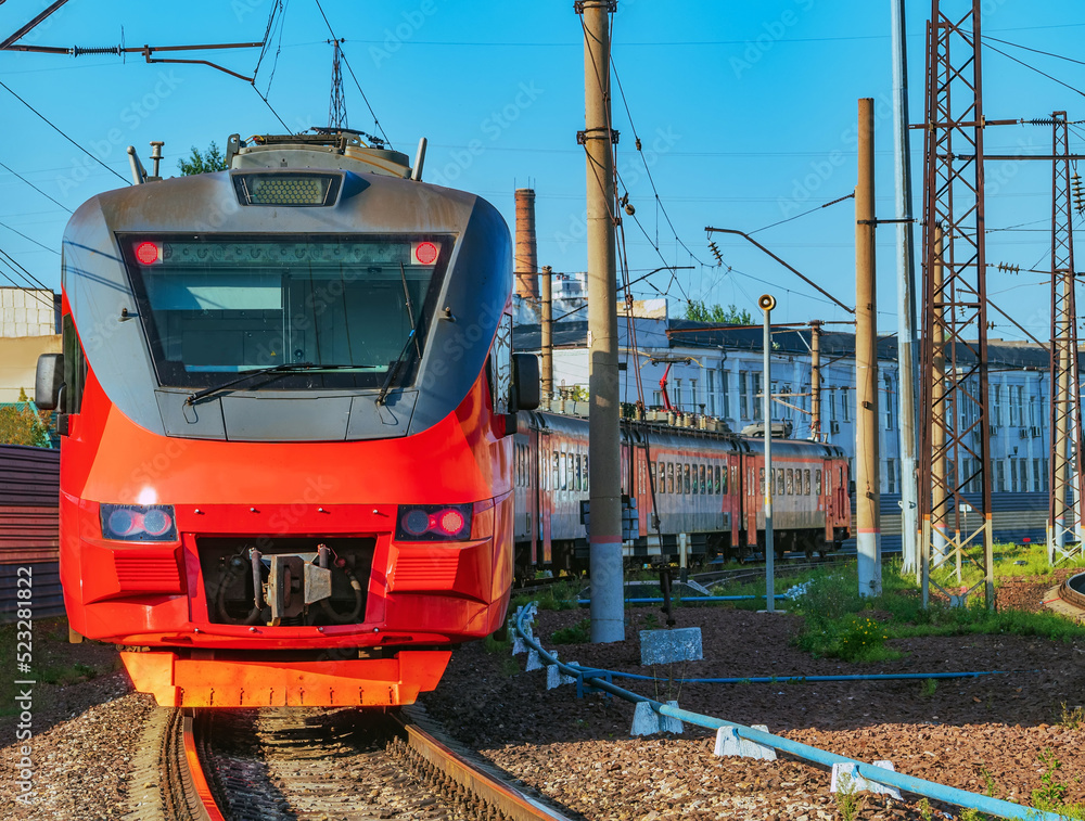
<instances>
[{"instance_id":1,"label":"orange and grey passenger train in the background, behind the poles","mask_svg":"<svg viewBox=\"0 0 1085 821\"><path fill-rule=\"evenodd\" d=\"M518 578L535 569L585 569L588 541L580 503L588 498L587 419L521 413L515 460ZM839 549L851 531L844 451L774 438L773 473L777 555ZM681 535L692 561L763 553L764 483L761 436L623 423L622 495L636 500L626 514L633 527L624 554L633 561L675 561Z\"/></svg>"}]
</instances>

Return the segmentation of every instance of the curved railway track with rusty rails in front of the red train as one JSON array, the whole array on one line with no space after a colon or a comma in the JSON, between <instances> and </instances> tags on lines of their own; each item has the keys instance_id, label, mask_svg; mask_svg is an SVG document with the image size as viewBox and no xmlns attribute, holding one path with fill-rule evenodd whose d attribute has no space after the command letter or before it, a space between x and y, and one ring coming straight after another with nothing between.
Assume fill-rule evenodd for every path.
<instances>
[{"instance_id":1,"label":"curved railway track with rusty rails in front of the red train","mask_svg":"<svg viewBox=\"0 0 1085 821\"><path fill-rule=\"evenodd\" d=\"M156 768L138 773L126 821L569 818L439 739L420 708L164 709L148 733Z\"/></svg>"}]
</instances>

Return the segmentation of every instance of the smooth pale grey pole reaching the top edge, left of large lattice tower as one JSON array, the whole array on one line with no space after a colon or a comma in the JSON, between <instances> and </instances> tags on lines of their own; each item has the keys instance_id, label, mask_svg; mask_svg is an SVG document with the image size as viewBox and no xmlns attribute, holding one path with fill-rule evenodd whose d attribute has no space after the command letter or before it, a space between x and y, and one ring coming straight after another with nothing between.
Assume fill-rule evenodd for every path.
<instances>
[{"instance_id":1,"label":"smooth pale grey pole reaching the top edge, left of large lattice tower","mask_svg":"<svg viewBox=\"0 0 1085 821\"><path fill-rule=\"evenodd\" d=\"M905 42L904 0L892 3L893 34L893 147L896 166L896 218L911 219L911 146L908 142L908 50ZM916 342L916 267L912 223L896 226L897 373L901 396L901 534L904 573L919 570L919 493L916 484L916 396L918 343ZM889 399L886 398L886 401Z\"/></svg>"}]
</instances>

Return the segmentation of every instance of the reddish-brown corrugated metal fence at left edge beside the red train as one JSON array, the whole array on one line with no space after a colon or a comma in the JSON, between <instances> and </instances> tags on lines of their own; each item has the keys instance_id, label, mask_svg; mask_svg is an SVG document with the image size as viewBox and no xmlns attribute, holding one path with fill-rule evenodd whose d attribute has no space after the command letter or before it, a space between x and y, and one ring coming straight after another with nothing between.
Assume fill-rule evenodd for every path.
<instances>
[{"instance_id":1,"label":"reddish-brown corrugated metal fence at left edge beside the red train","mask_svg":"<svg viewBox=\"0 0 1085 821\"><path fill-rule=\"evenodd\" d=\"M21 567L30 568L34 617L64 614L58 566L60 456L59 450L0 445L0 621L15 618Z\"/></svg>"}]
</instances>

